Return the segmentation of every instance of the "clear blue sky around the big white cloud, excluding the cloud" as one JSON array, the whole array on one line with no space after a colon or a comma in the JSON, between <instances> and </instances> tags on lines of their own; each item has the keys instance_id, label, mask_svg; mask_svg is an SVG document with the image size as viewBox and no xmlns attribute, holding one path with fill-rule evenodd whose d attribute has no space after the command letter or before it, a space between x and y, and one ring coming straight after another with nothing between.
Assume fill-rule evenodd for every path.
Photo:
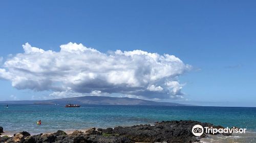
<instances>
[{"instance_id":1,"label":"clear blue sky around the big white cloud, excluding the cloud","mask_svg":"<svg viewBox=\"0 0 256 143\"><path fill-rule=\"evenodd\" d=\"M256 105L254 1L1 1L3 57L29 42L59 51L82 43L102 53L142 50L170 54L193 69L179 76L182 99L208 106ZM0 100L31 100L52 91L16 89L0 80Z\"/></svg>"}]
</instances>

